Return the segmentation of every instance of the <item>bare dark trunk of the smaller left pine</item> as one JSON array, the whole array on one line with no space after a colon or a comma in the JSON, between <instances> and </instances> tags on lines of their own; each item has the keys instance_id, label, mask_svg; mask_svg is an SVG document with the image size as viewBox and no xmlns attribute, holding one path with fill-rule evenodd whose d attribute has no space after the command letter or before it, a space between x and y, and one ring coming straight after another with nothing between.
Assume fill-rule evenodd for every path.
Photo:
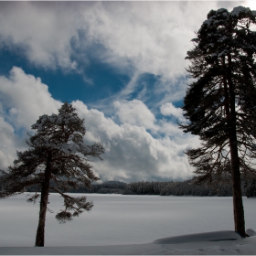
<instances>
[{"instance_id":1,"label":"bare dark trunk of the smaller left pine","mask_svg":"<svg viewBox=\"0 0 256 256\"><path fill-rule=\"evenodd\" d=\"M49 179L50 179L50 164L48 164L46 167L45 180L41 188L40 212L39 212L39 221L37 226L37 237L36 237L36 243L35 243L35 246L40 246L40 247L43 247L45 245L45 223L46 223L46 214L48 209Z\"/></svg>"}]
</instances>

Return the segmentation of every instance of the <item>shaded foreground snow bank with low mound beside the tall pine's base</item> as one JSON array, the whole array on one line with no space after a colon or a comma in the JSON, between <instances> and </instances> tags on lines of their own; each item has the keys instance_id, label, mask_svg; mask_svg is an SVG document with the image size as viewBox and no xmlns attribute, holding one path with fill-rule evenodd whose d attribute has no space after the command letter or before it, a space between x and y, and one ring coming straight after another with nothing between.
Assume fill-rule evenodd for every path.
<instances>
[{"instance_id":1,"label":"shaded foreground snow bank with low mound beside the tall pine's base","mask_svg":"<svg viewBox=\"0 0 256 256\"><path fill-rule=\"evenodd\" d=\"M253 255L255 251L255 236L241 239L229 230L171 237L145 244L0 248L1 255Z\"/></svg>"}]
</instances>

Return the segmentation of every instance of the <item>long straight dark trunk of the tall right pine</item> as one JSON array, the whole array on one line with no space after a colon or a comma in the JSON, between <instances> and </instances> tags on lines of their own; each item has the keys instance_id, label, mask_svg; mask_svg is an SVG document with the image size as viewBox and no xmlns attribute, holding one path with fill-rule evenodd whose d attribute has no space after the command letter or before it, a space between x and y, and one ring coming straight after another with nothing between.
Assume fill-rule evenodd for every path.
<instances>
[{"instance_id":1,"label":"long straight dark trunk of the tall right pine","mask_svg":"<svg viewBox=\"0 0 256 256\"><path fill-rule=\"evenodd\" d=\"M231 67L231 57L229 59L229 69ZM229 70L231 72L231 70ZM228 76L229 83L229 147L231 157L231 174L232 174L232 194L233 194L233 210L234 210L234 224L235 231L237 231L241 237L245 238L245 221L244 210L242 205L242 194L240 188L240 157L238 153L238 141L237 141L237 127L236 127L236 99L234 84Z\"/></svg>"}]
</instances>

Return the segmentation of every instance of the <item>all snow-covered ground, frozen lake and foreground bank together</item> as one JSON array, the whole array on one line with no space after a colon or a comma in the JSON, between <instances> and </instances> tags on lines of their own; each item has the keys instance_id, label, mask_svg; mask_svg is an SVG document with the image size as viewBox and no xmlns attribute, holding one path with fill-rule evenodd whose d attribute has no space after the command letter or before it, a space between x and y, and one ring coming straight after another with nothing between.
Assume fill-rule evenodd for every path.
<instances>
[{"instance_id":1,"label":"all snow-covered ground, frozen lake and foreground bank together","mask_svg":"<svg viewBox=\"0 0 256 256\"><path fill-rule=\"evenodd\" d=\"M45 248L33 247L38 206L28 204L25 195L0 200L0 254L256 253L256 236L240 239L233 231L216 233L233 230L231 197L87 197L95 205L91 213L67 224L59 225L48 213ZM55 212L62 205L59 199L50 196L49 208ZM255 203L255 198L244 198L247 229L256 228ZM170 238L194 233L201 234Z\"/></svg>"}]
</instances>

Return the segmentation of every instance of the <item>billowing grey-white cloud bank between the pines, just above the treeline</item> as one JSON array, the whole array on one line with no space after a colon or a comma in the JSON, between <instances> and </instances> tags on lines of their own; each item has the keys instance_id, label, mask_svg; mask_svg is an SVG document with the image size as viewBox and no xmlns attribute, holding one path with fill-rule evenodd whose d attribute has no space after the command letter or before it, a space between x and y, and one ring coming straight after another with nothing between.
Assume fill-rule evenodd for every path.
<instances>
[{"instance_id":1,"label":"billowing grey-white cloud bank between the pines, just above the treeline","mask_svg":"<svg viewBox=\"0 0 256 256\"><path fill-rule=\"evenodd\" d=\"M183 154L189 146L187 140L179 144L177 138L176 141L167 137L156 139L144 127L114 123L102 112L89 110L81 101L74 101L73 105L85 119L86 140L101 142L106 148L103 161L94 163L104 179L138 181L152 180L153 176L155 179L191 176L192 169Z\"/></svg>"}]
</instances>

